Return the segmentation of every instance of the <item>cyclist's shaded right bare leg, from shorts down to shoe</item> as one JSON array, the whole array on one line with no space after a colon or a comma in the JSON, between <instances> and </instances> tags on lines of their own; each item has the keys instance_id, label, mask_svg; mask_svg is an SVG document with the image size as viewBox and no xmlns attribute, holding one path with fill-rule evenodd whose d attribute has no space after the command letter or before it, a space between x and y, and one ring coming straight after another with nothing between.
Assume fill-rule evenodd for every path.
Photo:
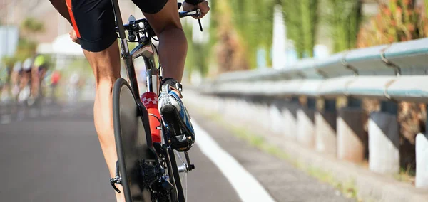
<instances>
[{"instance_id":1,"label":"cyclist's shaded right bare leg, from shorts down to shoe","mask_svg":"<svg viewBox=\"0 0 428 202\"><path fill-rule=\"evenodd\" d=\"M173 78L180 82L188 47L178 16L177 1L170 0L158 13L144 13L144 16L159 38L159 59L163 66L163 78Z\"/></svg>"}]
</instances>

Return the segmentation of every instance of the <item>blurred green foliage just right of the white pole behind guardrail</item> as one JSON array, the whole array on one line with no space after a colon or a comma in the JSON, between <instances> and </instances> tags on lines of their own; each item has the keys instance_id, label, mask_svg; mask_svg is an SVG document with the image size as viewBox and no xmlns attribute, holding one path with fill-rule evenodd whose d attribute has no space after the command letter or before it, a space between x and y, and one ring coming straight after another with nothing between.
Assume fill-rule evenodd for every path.
<instances>
[{"instance_id":1,"label":"blurred green foliage just right of the white pole behind guardrail","mask_svg":"<svg viewBox=\"0 0 428 202\"><path fill-rule=\"evenodd\" d=\"M298 58L313 56L317 36L319 0L282 0L287 36L295 43Z\"/></svg>"}]
</instances>

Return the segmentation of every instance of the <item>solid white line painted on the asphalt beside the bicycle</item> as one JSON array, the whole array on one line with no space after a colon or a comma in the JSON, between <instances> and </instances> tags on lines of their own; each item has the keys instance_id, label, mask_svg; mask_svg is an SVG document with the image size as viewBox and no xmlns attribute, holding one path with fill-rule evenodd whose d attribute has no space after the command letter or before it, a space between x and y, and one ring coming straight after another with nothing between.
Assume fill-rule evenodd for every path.
<instances>
[{"instance_id":1,"label":"solid white line painted on the asphalt beside the bicycle","mask_svg":"<svg viewBox=\"0 0 428 202\"><path fill-rule=\"evenodd\" d=\"M244 202L270 202L272 196L233 156L223 150L210 135L192 120L195 129L196 144L205 156L213 161L223 175L232 184L240 199Z\"/></svg>"}]
</instances>

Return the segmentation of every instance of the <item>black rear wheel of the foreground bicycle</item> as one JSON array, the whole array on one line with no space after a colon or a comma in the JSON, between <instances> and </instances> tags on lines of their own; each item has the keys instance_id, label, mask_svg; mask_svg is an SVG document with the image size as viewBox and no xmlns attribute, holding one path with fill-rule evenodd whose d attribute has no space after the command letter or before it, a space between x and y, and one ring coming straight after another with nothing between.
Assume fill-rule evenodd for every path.
<instances>
[{"instance_id":1,"label":"black rear wheel of the foreground bicycle","mask_svg":"<svg viewBox=\"0 0 428 202\"><path fill-rule=\"evenodd\" d=\"M140 115L131 87L123 78L113 87L113 125L118 154L118 167L126 201L151 201L151 191L143 182L143 164L155 164L151 151L151 137L146 135L143 117ZM147 113L146 113L147 114ZM147 115L146 115L147 116ZM149 139L148 139L149 138Z\"/></svg>"}]
</instances>

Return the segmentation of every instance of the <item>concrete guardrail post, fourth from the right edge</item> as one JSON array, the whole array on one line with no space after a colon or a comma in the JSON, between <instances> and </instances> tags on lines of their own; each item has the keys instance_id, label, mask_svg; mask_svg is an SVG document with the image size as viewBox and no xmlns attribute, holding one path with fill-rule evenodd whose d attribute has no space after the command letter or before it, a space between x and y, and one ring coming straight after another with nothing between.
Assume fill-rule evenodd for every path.
<instances>
[{"instance_id":1,"label":"concrete guardrail post, fourth from the right edge","mask_svg":"<svg viewBox=\"0 0 428 202\"><path fill-rule=\"evenodd\" d=\"M330 156L336 151L336 119L335 100L325 100L324 109L315 112L315 148Z\"/></svg>"}]
</instances>

